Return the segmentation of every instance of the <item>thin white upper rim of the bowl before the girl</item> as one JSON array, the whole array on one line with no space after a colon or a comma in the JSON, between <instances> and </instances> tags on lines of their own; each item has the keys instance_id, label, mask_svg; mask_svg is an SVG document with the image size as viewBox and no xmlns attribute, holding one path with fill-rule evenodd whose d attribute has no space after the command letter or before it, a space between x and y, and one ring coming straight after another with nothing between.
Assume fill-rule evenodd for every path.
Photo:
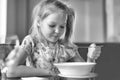
<instances>
[{"instance_id":1,"label":"thin white upper rim of the bowl before the girl","mask_svg":"<svg viewBox=\"0 0 120 80\"><path fill-rule=\"evenodd\" d=\"M54 63L55 66L76 66L76 65L95 65L95 62L63 62Z\"/></svg>"}]
</instances>

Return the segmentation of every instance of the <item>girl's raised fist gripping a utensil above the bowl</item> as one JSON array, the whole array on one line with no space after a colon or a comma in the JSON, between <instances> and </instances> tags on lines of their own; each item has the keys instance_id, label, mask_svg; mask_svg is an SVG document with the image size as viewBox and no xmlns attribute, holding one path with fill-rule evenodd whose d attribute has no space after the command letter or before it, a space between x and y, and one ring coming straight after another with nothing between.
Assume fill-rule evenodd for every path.
<instances>
[{"instance_id":1,"label":"girl's raised fist gripping a utensil above the bowl","mask_svg":"<svg viewBox=\"0 0 120 80\"><path fill-rule=\"evenodd\" d=\"M96 46L94 43L91 44L88 48L88 62L95 62L95 60L100 56L101 54L101 47Z\"/></svg>"}]
</instances>

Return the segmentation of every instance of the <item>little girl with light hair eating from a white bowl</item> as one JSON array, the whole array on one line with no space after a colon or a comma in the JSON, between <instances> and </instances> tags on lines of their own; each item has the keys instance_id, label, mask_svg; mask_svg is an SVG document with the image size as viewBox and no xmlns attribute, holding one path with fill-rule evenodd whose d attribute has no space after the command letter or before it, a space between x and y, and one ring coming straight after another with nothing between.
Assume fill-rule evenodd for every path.
<instances>
[{"instance_id":1,"label":"little girl with light hair eating from a white bowl","mask_svg":"<svg viewBox=\"0 0 120 80\"><path fill-rule=\"evenodd\" d=\"M60 80L53 63L84 61L71 41L75 14L59 0L41 0L33 10L33 24L16 55L7 64L7 77L44 77ZM100 48L88 50L88 60L97 59ZM92 56L92 57L91 57ZM89 58L90 57L90 58Z\"/></svg>"}]
</instances>

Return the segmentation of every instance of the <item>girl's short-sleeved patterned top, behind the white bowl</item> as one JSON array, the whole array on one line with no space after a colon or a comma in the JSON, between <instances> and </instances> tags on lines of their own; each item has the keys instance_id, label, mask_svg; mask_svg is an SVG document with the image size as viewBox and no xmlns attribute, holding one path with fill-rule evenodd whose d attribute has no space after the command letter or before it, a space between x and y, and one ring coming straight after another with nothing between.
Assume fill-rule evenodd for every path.
<instances>
[{"instance_id":1,"label":"girl's short-sleeved patterned top, behind the white bowl","mask_svg":"<svg viewBox=\"0 0 120 80\"><path fill-rule=\"evenodd\" d=\"M21 47L28 53L26 65L35 68L42 68L46 70L53 70L53 63L60 63L69 61L78 54L75 45L64 44L57 41L55 47L51 48L44 40L37 40L35 37L27 35ZM74 46L74 47L73 47Z\"/></svg>"}]
</instances>

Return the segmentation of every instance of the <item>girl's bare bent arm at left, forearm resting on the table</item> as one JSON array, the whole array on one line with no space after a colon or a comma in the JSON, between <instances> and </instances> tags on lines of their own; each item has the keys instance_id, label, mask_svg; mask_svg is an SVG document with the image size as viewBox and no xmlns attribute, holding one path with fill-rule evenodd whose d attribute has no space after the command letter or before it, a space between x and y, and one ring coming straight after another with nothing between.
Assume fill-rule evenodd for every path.
<instances>
[{"instance_id":1,"label":"girl's bare bent arm at left, forearm resting on the table","mask_svg":"<svg viewBox=\"0 0 120 80\"><path fill-rule=\"evenodd\" d=\"M27 55L27 52L23 48L19 48L16 57L7 63L7 77L50 76L47 70L22 65Z\"/></svg>"}]
</instances>

